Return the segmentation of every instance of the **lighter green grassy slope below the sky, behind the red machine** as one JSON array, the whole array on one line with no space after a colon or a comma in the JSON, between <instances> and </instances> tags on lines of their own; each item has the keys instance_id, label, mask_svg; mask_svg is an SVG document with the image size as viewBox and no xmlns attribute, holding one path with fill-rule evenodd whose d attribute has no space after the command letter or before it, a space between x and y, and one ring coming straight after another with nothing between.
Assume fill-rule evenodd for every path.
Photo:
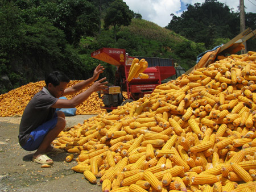
<instances>
[{"instance_id":1,"label":"lighter green grassy slope below the sky, behind the red machine","mask_svg":"<svg viewBox=\"0 0 256 192\"><path fill-rule=\"evenodd\" d=\"M121 31L123 30L128 30L132 35L140 36L150 41L143 44L143 49L149 49L146 50L146 55L144 54L143 56L177 59L179 64L187 69L191 67L189 65L195 64L196 56L201 53L198 48L199 44L144 19L133 19L130 26L121 27ZM152 43L152 41L154 42ZM154 43L155 47L150 45ZM183 46L181 48L181 52L184 49L183 53L177 51L180 46ZM186 56L189 58L185 58ZM191 62L189 64L188 59Z\"/></svg>"}]
</instances>

